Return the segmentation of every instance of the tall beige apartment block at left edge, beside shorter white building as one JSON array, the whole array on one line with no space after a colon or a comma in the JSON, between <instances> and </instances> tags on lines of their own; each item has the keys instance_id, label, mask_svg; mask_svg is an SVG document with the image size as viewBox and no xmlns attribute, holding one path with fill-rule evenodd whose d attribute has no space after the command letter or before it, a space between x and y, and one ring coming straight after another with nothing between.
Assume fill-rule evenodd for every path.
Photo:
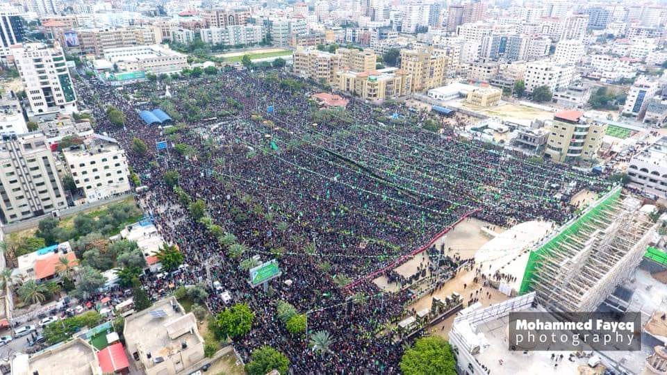
<instances>
[{"instance_id":1,"label":"tall beige apartment block at left edge, beside shorter white building","mask_svg":"<svg viewBox=\"0 0 667 375\"><path fill-rule=\"evenodd\" d=\"M3 135L0 219L19 222L67 207L47 138L40 132Z\"/></svg>"}]
</instances>

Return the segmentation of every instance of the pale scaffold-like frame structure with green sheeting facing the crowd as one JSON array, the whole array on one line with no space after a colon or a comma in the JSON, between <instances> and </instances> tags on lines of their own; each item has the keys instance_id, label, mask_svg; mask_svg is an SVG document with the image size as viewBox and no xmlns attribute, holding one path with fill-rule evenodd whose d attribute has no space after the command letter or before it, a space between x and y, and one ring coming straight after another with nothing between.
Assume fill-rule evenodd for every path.
<instances>
[{"instance_id":1,"label":"pale scaffold-like frame structure with green sheeting facing the crowd","mask_svg":"<svg viewBox=\"0 0 667 375\"><path fill-rule=\"evenodd\" d=\"M532 251L521 292L548 310L595 311L641 262L657 224L615 188Z\"/></svg>"}]
</instances>

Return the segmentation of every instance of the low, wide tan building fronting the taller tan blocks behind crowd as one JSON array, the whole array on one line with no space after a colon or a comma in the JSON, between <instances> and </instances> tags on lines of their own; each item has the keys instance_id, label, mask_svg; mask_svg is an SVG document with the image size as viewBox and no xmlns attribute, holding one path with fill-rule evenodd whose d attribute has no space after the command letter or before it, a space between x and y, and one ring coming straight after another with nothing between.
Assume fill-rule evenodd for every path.
<instances>
[{"instance_id":1,"label":"low, wide tan building fronting the taller tan blocks behind crowd","mask_svg":"<svg viewBox=\"0 0 667 375\"><path fill-rule=\"evenodd\" d=\"M341 71L336 78L338 90L373 101L402 97L412 92L412 76L395 68L370 72Z\"/></svg>"}]
</instances>

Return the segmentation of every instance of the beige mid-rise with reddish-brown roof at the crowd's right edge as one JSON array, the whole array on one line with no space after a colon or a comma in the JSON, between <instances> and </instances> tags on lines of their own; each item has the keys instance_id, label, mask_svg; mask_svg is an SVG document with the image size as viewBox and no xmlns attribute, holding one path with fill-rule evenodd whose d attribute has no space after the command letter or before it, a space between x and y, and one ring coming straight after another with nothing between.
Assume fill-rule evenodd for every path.
<instances>
[{"instance_id":1,"label":"beige mid-rise with reddish-brown roof at the crowd's right edge","mask_svg":"<svg viewBox=\"0 0 667 375\"><path fill-rule=\"evenodd\" d=\"M563 110L554 114L547 140L545 158L559 163L595 160L602 145L607 125L584 118L579 110Z\"/></svg>"}]
</instances>

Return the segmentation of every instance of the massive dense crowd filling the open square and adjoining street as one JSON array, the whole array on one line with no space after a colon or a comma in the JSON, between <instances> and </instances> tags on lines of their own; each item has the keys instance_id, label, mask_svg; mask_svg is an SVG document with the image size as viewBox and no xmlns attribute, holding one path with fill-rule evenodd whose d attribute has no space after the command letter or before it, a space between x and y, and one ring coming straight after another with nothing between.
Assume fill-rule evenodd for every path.
<instances>
[{"instance_id":1,"label":"massive dense crowd filling the open square and adjoining street","mask_svg":"<svg viewBox=\"0 0 667 375\"><path fill-rule=\"evenodd\" d=\"M171 98L160 98L161 83L118 90L92 80L76 82L82 109L94 115L97 131L122 144L149 188L140 197L142 208L190 265L181 274L147 276L143 282L157 293L169 284L206 281L211 274L256 313L254 330L237 345L245 359L269 344L288 355L297 373L395 373L402 349L376 333L381 324L402 317L409 296L378 298L374 283L365 281L352 290L365 302L348 312L341 283L419 247L473 210L495 225L538 217L563 222L572 215L567 202L576 190L608 187L557 165L533 165L460 142L448 129L424 131L419 127L429 114L402 106L370 108L352 100L344 111L318 110L308 100L318 89L286 88L281 84L286 78L220 73L172 82ZM186 126L165 134L142 122L138 110L159 103L185 115ZM107 106L122 110L124 127L110 124ZM267 113L269 106L274 110ZM188 120L197 111L217 119ZM148 145L147 155L133 151L133 138ZM157 151L153 145L161 140L188 144L194 152ZM279 258L283 276L270 283L274 296L254 290L247 271L188 215L163 178L170 169L179 172L183 190L206 201L216 224L249 246L249 255ZM287 279L292 283L284 283ZM277 299L308 312L308 331L329 331L333 353L322 357L304 338L291 337L277 319L271 302ZM224 308L215 292L208 307Z\"/></svg>"}]
</instances>

